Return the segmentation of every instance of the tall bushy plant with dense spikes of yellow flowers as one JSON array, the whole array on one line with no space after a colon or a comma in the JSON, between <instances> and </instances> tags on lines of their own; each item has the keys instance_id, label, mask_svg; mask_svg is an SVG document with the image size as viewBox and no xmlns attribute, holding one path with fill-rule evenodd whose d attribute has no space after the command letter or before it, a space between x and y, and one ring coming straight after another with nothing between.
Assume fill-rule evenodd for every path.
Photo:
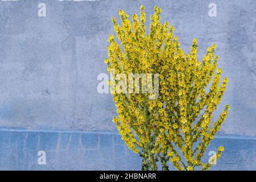
<instances>
[{"instance_id":1,"label":"tall bushy plant with dense spikes of yellow flowers","mask_svg":"<svg viewBox=\"0 0 256 182\"><path fill-rule=\"evenodd\" d=\"M117 93L118 82L109 81L118 114L113 122L130 150L142 157L142 170L157 170L158 164L168 170L169 162L179 170L209 169L211 164L201 160L228 114L226 105L210 125L228 78L221 81L215 44L201 61L197 59L196 39L190 53L185 54L174 36L174 27L160 23L161 9L155 6L154 10L148 34L143 5L139 17L133 14L132 22L123 10L119 10L121 24L112 19L119 44L109 36L108 71L159 73L155 100L149 99L148 93ZM223 150L223 146L218 147L214 159L219 159Z\"/></svg>"}]
</instances>

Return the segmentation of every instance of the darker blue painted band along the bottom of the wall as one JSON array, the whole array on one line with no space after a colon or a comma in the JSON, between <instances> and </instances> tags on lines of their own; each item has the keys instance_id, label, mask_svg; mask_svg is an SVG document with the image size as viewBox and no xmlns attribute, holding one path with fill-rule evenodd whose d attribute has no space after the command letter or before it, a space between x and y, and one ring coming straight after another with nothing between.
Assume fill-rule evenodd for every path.
<instances>
[{"instance_id":1,"label":"darker blue painted band along the bottom of the wall","mask_svg":"<svg viewBox=\"0 0 256 182\"><path fill-rule=\"evenodd\" d=\"M0 170L141 169L141 158L125 146L118 133L0 129L0 138ZM225 151L212 170L256 169L254 138L217 137L203 162L220 145ZM39 151L46 152L45 165L38 164Z\"/></svg>"}]
</instances>

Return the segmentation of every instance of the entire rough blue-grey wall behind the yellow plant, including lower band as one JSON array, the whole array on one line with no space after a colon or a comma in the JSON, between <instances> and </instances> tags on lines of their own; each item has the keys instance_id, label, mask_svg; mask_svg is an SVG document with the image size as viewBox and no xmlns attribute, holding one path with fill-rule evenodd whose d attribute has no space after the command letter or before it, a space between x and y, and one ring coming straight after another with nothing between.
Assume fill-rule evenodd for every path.
<instances>
[{"instance_id":1,"label":"entire rough blue-grey wall behind the yellow plant, including lower band","mask_svg":"<svg viewBox=\"0 0 256 182\"><path fill-rule=\"evenodd\" d=\"M4 143L0 137L0 169L140 168L140 161L137 159L135 162L128 160L127 166L114 164L113 161L109 167L106 167L108 162L96 163L93 166L82 157L93 160L98 153L84 155L86 149L76 148L76 145L65 152L76 149L75 161L81 162L79 165L72 163L74 159L65 154L61 156L67 162L60 161L56 156L59 154L56 148L49 151L52 163L48 166L33 165L36 163L36 151L43 150L36 148L42 142L38 143L36 138L41 135L51 136L54 133L55 137L46 137L46 146L55 146L55 140L60 138L59 134L61 137L69 135L65 132L62 135L61 130L68 130L76 137L78 130L89 131L82 133L87 136L88 141L94 136L91 131L115 133L115 125L112 123L115 115L112 96L97 92L97 76L99 73L106 73L104 58L107 56L106 40L110 33L113 34L112 16L118 16L119 9L130 15L139 13L141 3L146 7L147 27L154 5L162 8L163 21L168 20L174 25L175 34L185 51L189 51L193 38L199 41L200 58L207 47L212 43L217 44L219 65L224 69L223 75L230 80L219 108L230 104L232 109L221 129L221 135L227 138L214 140L220 144L224 142L228 147L225 160L220 162L222 166L216 169L255 169L255 140L242 138L256 137L254 0L44 0L46 17L38 16L40 2L0 1L0 127L3 129L0 135L9 139L9 142ZM216 17L208 15L208 5L211 2L217 5ZM218 114L220 111L214 115L215 119ZM12 133L9 127L18 131ZM23 129L29 129L29 132ZM238 135L241 138L230 139L229 135ZM35 141L27 146L31 150L27 150L26 143L31 136L35 137ZM64 141L64 144L72 143L69 140ZM114 150L113 143L108 144ZM8 149L5 150L3 146ZM122 156L123 151L120 152L115 156ZM28 159L25 154L33 158ZM109 159L108 155L105 159Z\"/></svg>"}]
</instances>

